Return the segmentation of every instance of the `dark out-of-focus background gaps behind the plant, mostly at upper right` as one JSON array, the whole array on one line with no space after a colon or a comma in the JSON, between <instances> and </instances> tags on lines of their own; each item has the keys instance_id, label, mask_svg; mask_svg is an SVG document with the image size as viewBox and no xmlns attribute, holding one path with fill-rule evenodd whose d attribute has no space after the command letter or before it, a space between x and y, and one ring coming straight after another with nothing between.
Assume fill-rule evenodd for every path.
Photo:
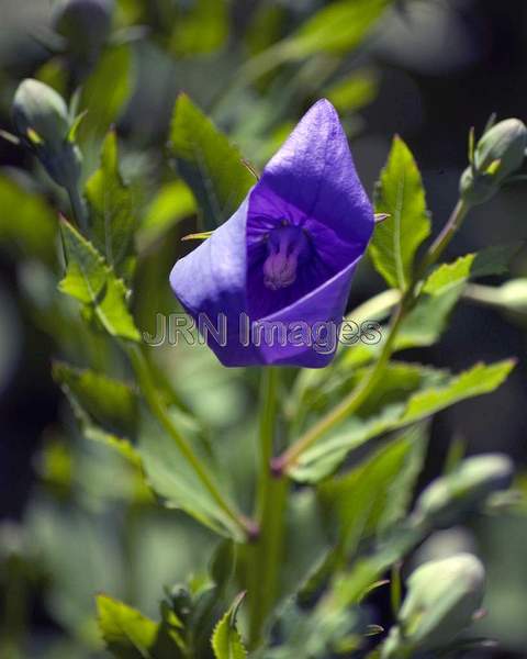
<instances>
[{"instance_id":1,"label":"dark out-of-focus background gaps behind the plant, mostly at upper right","mask_svg":"<svg viewBox=\"0 0 527 659\"><path fill-rule=\"evenodd\" d=\"M184 70L184 59L173 59L159 45L139 40L134 45L137 83L133 100L119 123L120 133L135 135L134 153L144 149L145 154L161 154L173 101L178 91L184 89L198 97L204 110L213 111L217 123L232 134L249 159L261 165L268 149L258 142L258 130L244 129L244 122L251 120L247 98L231 98L238 105L234 111L228 109L227 101L215 103L215 97L232 75L229 58L239 57L238 42L262 5L277 10L279 35L321 4L324 3L314 0L233 0L228 3L227 44L218 53L201 57L190 74ZM46 0L1 0L1 127L12 130L10 102L18 81L34 75L48 57L35 35L48 24L49 8ZM422 169L437 231L457 200L459 176L467 163L470 126L481 133L492 112L498 118L527 120L527 2L401 1L397 10L374 31L367 47L354 54L349 66L373 72L371 98L352 112L341 111L367 189L373 188L391 137L401 134ZM304 94L289 93L284 88L288 100L282 109L283 125L294 122L323 92L316 80L311 81L311 89ZM269 136L264 122L261 132L266 131ZM278 131L277 141L279 134ZM31 168L32 163L21 149L0 141L0 167L13 172L13 168ZM18 170L13 176L22 178L24 175ZM471 213L449 256L525 239L526 209L527 183L504 190ZM7 221L16 222L16 216ZM169 254L173 256L178 236L169 235L167 241L172 242L173 249ZM512 276L527 277L525 248L513 263ZM486 283L500 281L496 278ZM46 429L57 423L61 400L49 375L55 348L35 326L30 310L21 301L19 282L16 259L11 253L0 254L0 517L12 521L21 518L32 494L35 457ZM368 266L363 267L354 290L354 305L380 290L379 277ZM470 453L506 451L525 467L526 328L525 316L511 319L491 309L463 303L455 312L439 345L411 355L413 359L448 365L455 370L479 359L495 361L512 355L519 358L514 375L492 398L458 404L437 417L423 482L439 471L452 436L466 440ZM503 534L509 533L513 533L509 527L503 529ZM514 533L525 547L527 530L515 527ZM501 550L505 551L503 547ZM502 567L495 568L503 572L504 579L509 578L509 571L514 573L523 556L519 549L514 551L514 561L504 552ZM525 589L520 603L525 617L525 566L518 579L518 588L523 584ZM513 597L512 591L509 594ZM509 637L522 652L522 643L527 643L525 630L511 624ZM527 652L518 656L527 656Z\"/></svg>"}]
</instances>

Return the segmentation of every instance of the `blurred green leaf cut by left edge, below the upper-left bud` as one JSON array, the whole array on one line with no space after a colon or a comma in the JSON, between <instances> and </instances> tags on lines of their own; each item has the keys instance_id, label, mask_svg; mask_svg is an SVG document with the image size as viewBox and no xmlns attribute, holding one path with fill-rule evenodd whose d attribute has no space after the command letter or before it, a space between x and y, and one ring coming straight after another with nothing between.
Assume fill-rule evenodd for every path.
<instances>
[{"instance_id":1,"label":"blurred green leaf cut by left edge, below the upper-left bud","mask_svg":"<svg viewBox=\"0 0 527 659\"><path fill-rule=\"evenodd\" d=\"M49 263L57 235L56 213L44 198L0 176L0 244Z\"/></svg>"}]
</instances>

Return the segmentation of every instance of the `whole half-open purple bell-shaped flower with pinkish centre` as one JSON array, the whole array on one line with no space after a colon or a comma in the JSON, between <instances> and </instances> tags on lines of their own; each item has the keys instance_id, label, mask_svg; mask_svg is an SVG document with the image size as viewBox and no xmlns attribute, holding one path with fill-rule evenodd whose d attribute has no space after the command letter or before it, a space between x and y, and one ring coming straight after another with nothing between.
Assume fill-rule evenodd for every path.
<instances>
[{"instance_id":1,"label":"whole half-open purple bell-shaped flower with pinkish centre","mask_svg":"<svg viewBox=\"0 0 527 659\"><path fill-rule=\"evenodd\" d=\"M175 265L170 284L225 366L327 366L373 231L333 105L303 116L234 215Z\"/></svg>"}]
</instances>

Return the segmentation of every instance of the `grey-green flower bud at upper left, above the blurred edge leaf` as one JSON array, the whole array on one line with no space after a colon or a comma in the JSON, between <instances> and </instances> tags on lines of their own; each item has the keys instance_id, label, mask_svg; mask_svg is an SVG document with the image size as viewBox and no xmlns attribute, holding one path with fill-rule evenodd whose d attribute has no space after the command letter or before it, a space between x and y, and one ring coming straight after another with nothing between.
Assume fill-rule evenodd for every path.
<instances>
[{"instance_id":1,"label":"grey-green flower bud at upper left, above the blurred edge leaf","mask_svg":"<svg viewBox=\"0 0 527 659\"><path fill-rule=\"evenodd\" d=\"M41 160L53 180L65 188L77 185L81 155L72 137L64 99L38 80L26 79L13 100L13 122L24 145Z\"/></svg>"}]
</instances>

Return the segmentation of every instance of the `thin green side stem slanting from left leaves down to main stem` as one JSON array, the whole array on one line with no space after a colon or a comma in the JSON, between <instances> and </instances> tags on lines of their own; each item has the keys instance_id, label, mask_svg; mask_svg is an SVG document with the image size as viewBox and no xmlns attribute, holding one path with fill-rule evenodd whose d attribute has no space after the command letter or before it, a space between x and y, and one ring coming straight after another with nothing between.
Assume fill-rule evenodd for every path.
<instances>
[{"instance_id":1,"label":"thin green side stem slanting from left leaves down to main stem","mask_svg":"<svg viewBox=\"0 0 527 659\"><path fill-rule=\"evenodd\" d=\"M222 509L222 511L239 527L239 529L247 536L251 537L255 534L254 525L249 520L246 520L240 513L238 513L224 498L216 483L210 476L205 466L202 463L200 458L194 454L192 446L189 442L180 434L178 428L175 426L164 402L159 398L157 388L155 386L155 379L153 378L150 366L145 358L142 349L138 346L132 346L127 349L132 366L134 368L137 382L145 396L146 402L150 409L150 412L157 418L162 428L170 435L170 437L177 444L179 450L183 455L184 459L191 466L203 487L209 491L211 496Z\"/></svg>"}]
</instances>

